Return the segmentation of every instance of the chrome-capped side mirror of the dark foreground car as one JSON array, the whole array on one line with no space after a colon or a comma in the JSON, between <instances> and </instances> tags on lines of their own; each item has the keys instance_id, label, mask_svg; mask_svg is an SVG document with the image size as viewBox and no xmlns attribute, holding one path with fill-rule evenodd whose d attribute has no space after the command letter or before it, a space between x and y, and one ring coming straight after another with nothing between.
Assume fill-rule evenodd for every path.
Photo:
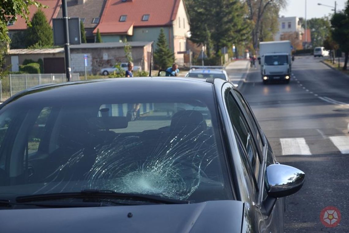
<instances>
[{"instance_id":1,"label":"chrome-capped side mirror of the dark foreground car","mask_svg":"<svg viewBox=\"0 0 349 233\"><path fill-rule=\"evenodd\" d=\"M265 172L267 193L270 197L285 197L302 188L305 173L282 164L269 165Z\"/></svg>"}]
</instances>

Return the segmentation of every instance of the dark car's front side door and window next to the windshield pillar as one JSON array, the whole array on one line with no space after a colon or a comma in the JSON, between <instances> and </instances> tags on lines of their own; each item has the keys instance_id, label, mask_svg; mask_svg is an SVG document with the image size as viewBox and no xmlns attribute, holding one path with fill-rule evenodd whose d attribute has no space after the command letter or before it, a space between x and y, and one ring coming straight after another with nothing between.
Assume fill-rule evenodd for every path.
<instances>
[{"instance_id":1,"label":"dark car's front side door and window next to the windshield pillar","mask_svg":"<svg viewBox=\"0 0 349 233\"><path fill-rule=\"evenodd\" d=\"M225 112L229 117L229 127L234 134L238 150L233 154L235 169L243 171L244 175L240 177L237 190L241 201L245 203L245 221L248 222L250 231L246 232L266 232L263 215L259 205L259 182L261 160L255 139L247 120L239 108L239 105L233 96L231 83L223 86L222 97L224 100ZM239 157L237 160L236 157ZM244 231L245 232L245 231Z\"/></svg>"}]
</instances>

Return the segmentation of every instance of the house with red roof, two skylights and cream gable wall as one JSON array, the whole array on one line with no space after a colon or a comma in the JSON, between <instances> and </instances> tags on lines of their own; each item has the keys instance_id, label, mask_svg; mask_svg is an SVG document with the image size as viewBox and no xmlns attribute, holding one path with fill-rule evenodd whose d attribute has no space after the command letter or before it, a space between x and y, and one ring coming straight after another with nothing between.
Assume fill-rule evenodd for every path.
<instances>
[{"instance_id":1,"label":"house with red roof, two skylights and cream gable wall","mask_svg":"<svg viewBox=\"0 0 349 233\"><path fill-rule=\"evenodd\" d=\"M176 62L184 64L189 17L183 0L106 0L97 30L103 42L154 41L163 28Z\"/></svg>"}]
</instances>

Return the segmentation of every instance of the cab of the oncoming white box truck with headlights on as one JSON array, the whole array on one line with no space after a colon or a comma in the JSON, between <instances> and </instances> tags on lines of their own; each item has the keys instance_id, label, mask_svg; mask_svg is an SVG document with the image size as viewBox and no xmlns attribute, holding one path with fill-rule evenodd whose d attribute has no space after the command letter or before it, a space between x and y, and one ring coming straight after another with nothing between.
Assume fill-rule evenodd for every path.
<instances>
[{"instance_id":1,"label":"cab of the oncoming white box truck with headlights on","mask_svg":"<svg viewBox=\"0 0 349 233\"><path fill-rule=\"evenodd\" d=\"M272 80L284 80L287 83L291 78L291 56L289 53L266 53L261 61L263 83Z\"/></svg>"}]
</instances>

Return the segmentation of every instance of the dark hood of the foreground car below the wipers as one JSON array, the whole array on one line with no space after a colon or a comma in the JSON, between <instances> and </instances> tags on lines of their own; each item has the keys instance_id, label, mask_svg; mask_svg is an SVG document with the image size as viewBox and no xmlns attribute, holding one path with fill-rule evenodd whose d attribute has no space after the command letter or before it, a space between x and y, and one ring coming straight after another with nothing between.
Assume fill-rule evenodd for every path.
<instances>
[{"instance_id":1,"label":"dark hood of the foreground car below the wipers","mask_svg":"<svg viewBox=\"0 0 349 233\"><path fill-rule=\"evenodd\" d=\"M132 213L132 217L128 214ZM241 232L243 203L0 210L1 232Z\"/></svg>"}]
</instances>

